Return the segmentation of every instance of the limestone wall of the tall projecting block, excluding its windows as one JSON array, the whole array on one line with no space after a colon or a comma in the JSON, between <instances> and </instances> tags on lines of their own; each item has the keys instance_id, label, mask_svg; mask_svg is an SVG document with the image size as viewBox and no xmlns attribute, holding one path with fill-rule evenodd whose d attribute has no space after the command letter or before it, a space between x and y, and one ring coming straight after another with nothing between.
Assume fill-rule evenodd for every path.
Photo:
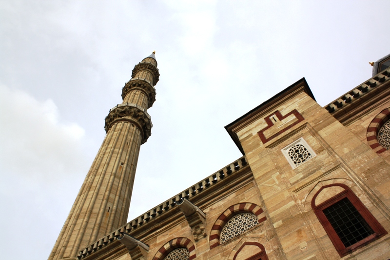
<instances>
[{"instance_id":1,"label":"limestone wall of the tall projecting block, excluding its windows","mask_svg":"<svg viewBox=\"0 0 390 260\"><path fill-rule=\"evenodd\" d=\"M390 231L389 164L320 107L303 86L252 114L234 131L281 244L284 257L279 259L340 259L312 210L311 200L324 185L347 185ZM300 138L314 156L293 168L282 150ZM385 235L357 249L350 259L388 259L388 238Z\"/></svg>"}]
</instances>

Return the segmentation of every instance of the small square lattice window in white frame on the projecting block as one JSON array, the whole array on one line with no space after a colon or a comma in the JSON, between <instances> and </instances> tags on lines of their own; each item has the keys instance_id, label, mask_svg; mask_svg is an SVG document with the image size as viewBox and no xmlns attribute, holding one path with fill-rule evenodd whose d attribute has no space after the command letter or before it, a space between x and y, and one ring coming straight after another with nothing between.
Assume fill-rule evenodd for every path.
<instances>
[{"instance_id":1,"label":"small square lattice window in white frame on the projecting block","mask_svg":"<svg viewBox=\"0 0 390 260\"><path fill-rule=\"evenodd\" d=\"M282 149L292 168L296 168L316 156L309 144L300 138Z\"/></svg>"}]
</instances>

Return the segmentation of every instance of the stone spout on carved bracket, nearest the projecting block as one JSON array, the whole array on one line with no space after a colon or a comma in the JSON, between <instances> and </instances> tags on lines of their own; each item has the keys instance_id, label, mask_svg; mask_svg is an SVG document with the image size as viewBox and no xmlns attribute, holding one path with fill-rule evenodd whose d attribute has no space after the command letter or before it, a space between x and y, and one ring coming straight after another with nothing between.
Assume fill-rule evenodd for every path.
<instances>
[{"instance_id":1,"label":"stone spout on carved bracket, nearest the projecting block","mask_svg":"<svg viewBox=\"0 0 390 260\"><path fill-rule=\"evenodd\" d=\"M197 241L205 238L207 236L205 230L206 214L187 199L177 202L176 205L186 217L186 220L191 227L192 234L194 235L194 240Z\"/></svg>"}]
</instances>

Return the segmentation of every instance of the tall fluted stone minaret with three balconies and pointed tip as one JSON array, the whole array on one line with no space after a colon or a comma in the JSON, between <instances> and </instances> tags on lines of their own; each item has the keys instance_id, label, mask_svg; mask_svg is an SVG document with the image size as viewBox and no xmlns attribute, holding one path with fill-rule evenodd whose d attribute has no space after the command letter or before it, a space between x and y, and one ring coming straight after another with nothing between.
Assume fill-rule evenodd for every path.
<instances>
[{"instance_id":1,"label":"tall fluted stone minaret with three balconies and pointed tip","mask_svg":"<svg viewBox=\"0 0 390 260\"><path fill-rule=\"evenodd\" d=\"M76 259L80 248L126 224L139 148L151 134L147 113L156 98L155 52L138 63L123 102L105 119L106 137L85 177L49 260Z\"/></svg>"}]
</instances>

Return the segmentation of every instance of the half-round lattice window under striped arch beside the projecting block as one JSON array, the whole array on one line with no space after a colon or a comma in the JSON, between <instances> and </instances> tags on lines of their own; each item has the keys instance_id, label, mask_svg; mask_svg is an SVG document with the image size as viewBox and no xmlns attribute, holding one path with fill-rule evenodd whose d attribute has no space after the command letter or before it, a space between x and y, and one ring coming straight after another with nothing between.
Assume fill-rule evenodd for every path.
<instances>
[{"instance_id":1,"label":"half-round lattice window under striped arch beside the projecting block","mask_svg":"<svg viewBox=\"0 0 390 260\"><path fill-rule=\"evenodd\" d=\"M220 238L221 244L239 236L258 223L259 221L257 220L256 215L252 213L234 215L222 228Z\"/></svg>"}]
</instances>

